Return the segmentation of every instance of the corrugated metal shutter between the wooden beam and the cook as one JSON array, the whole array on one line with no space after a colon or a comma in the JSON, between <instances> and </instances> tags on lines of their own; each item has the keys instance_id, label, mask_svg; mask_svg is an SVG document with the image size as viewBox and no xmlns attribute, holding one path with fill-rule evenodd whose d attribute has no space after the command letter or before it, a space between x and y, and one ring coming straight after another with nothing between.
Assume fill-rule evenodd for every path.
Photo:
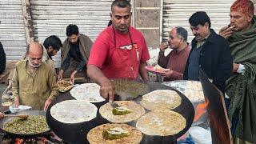
<instances>
[{"instance_id":1,"label":"corrugated metal shutter between the wooden beam and the cook","mask_svg":"<svg viewBox=\"0 0 256 144\"><path fill-rule=\"evenodd\" d=\"M81 34L93 41L110 21L112 0L30 0L34 38L43 42L55 34L66 39L66 26L76 24ZM60 52L53 57L55 66L60 66Z\"/></svg>"}]
</instances>

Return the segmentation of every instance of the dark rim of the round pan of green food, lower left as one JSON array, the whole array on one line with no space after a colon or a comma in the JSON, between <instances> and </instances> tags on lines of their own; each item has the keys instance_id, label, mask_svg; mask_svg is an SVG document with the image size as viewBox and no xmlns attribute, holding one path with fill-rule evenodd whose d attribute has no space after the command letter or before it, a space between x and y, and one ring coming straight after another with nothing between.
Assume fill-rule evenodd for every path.
<instances>
[{"instance_id":1,"label":"dark rim of the round pan of green food, lower left","mask_svg":"<svg viewBox=\"0 0 256 144\"><path fill-rule=\"evenodd\" d=\"M42 116L46 116L46 112L42 111L42 110L24 110L24 111L20 111L18 113L14 113L14 115L17 114L28 114L28 115L42 115ZM13 119L14 117L6 117L3 118L0 121L0 128L1 130L3 130L3 126L6 122L9 122ZM15 134L15 133L10 133L6 130L3 130L6 134L8 134L10 137L12 138L38 138L38 137L42 137L46 134L48 134L50 132L50 130L44 131L42 133L38 133L38 134Z\"/></svg>"}]
</instances>

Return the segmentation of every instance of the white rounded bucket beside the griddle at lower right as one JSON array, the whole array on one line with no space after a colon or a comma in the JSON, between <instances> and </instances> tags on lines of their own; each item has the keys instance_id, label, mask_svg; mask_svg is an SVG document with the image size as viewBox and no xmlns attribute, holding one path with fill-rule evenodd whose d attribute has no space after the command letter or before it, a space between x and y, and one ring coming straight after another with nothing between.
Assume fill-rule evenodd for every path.
<instances>
[{"instance_id":1,"label":"white rounded bucket beside the griddle at lower right","mask_svg":"<svg viewBox=\"0 0 256 144\"><path fill-rule=\"evenodd\" d=\"M210 130L199 126L192 126L189 133L195 144L212 144Z\"/></svg>"}]
</instances>

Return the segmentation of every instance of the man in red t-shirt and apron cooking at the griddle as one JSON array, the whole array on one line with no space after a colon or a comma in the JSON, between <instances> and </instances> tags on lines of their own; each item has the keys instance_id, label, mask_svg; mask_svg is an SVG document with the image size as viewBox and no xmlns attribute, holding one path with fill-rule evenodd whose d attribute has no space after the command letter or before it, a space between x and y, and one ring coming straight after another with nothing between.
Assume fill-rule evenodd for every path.
<instances>
[{"instance_id":1,"label":"man in red t-shirt and apron cooking at the griddle","mask_svg":"<svg viewBox=\"0 0 256 144\"><path fill-rule=\"evenodd\" d=\"M87 74L101 86L103 98L114 98L114 85L109 78L149 80L146 61L150 59L141 32L130 26L130 2L115 0L111 5L112 26L99 34L90 52Z\"/></svg>"}]
</instances>

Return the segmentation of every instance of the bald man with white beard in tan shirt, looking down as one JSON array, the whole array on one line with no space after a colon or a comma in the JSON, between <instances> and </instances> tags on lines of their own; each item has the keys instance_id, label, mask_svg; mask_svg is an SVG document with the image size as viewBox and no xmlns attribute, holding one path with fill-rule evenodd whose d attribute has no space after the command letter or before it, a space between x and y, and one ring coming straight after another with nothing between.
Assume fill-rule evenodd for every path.
<instances>
[{"instance_id":1,"label":"bald man with white beard in tan shirt, looking down","mask_svg":"<svg viewBox=\"0 0 256 144\"><path fill-rule=\"evenodd\" d=\"M30 43L28 58L17 62L12 82L14 105L31 106L33 110L47 110L58 96L52 67L42 62L42 45Z\"/></svg>"}]
</instances>

